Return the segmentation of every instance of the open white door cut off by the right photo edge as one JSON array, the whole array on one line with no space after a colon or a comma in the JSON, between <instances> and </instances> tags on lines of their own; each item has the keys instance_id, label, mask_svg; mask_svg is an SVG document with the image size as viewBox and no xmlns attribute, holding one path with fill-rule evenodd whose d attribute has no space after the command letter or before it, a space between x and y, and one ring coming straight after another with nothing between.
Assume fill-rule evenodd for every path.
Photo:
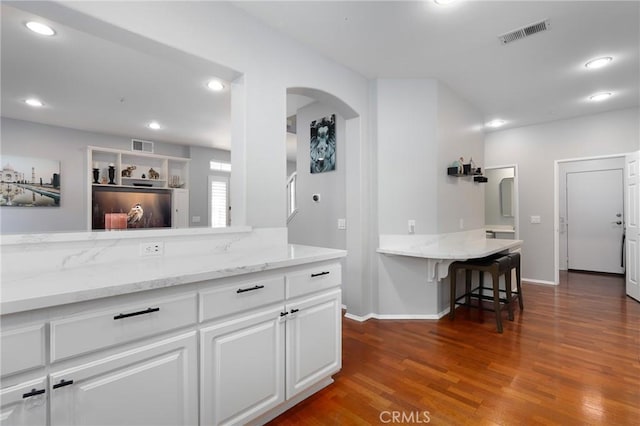
<instances>
[{"instance_id":1,"label":"open white door cut off by the right photo edge","mask_svg":"<svg viewBox=\"0 0 640 426\"><path fill-rule=\"evenodd\" d=\"M640 263L640 252L638 252L638 220L640 219L640 198L638 197L638 163L640 152L630 154L626 158L625 167L625 234L626 234L626 255L627 270L626 284L627 295L640 301L640 284L638 284L638 264Z\"/></svg>"}]
</instances>

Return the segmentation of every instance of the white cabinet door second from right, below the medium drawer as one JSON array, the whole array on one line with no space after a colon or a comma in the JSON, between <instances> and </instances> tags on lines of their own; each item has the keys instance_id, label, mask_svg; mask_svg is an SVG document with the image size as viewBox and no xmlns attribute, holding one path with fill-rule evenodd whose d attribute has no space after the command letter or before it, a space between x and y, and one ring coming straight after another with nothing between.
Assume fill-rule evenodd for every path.
<instances>
[{"instance_id":1,"label":"white cabinet door second from right, below the medium drawer","mask_svg":"<svg viewBox=\"0 0 640 426\"><path fill-rule=\"evenodd\" d=\"M244 424L284 401L283 309L201 330L202 424Z\"/></svg>"}]
</instances>

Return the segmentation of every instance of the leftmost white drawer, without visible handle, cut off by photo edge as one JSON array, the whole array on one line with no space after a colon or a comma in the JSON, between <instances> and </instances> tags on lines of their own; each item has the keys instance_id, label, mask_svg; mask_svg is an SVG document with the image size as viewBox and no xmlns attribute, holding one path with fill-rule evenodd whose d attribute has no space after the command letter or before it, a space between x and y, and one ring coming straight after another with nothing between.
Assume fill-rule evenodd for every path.
<instances>
[{"instance_id":1,"label":"leftmost white drawer, without visible handle, cut off by photo edge","mask_svg":"<svg viewBox=\"0 0 640 426\"><path fill-rule=\"evenodd\" d=\"M45 365L44 324L0 333L2 376Z\"/></svg>"}]
</instances>

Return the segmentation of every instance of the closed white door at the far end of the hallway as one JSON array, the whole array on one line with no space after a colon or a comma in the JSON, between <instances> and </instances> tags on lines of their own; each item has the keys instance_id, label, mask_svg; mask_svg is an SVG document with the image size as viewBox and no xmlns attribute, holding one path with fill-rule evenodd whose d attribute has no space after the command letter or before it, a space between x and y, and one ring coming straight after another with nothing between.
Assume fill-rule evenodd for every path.
<instances>
[{"instance_id":1,"label":"closed white door at the far end of the hallway","mask_svg":"<svg viewBox=\"0 0 640 426\"><path fill-rule=\"evenodd\" d=\"M567 174L569 269L624 273L622 169Z\"/></svg>"}]
</instances>

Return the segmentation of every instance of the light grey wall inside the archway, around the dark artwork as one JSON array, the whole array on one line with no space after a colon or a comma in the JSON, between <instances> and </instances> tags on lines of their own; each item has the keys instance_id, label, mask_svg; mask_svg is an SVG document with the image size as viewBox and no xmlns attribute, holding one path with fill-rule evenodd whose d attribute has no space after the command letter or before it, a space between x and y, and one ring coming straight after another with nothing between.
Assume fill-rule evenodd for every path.
<instances>
[{"instance_id":1,"label":"light grey wall inside the archway, around the dark artwork","mask_svg":"<svg viewBox=\"0 0 640 426\"><path fill-rule=\"evenodd\" d=\"M297 202L298 212L288 224L289 242L311 246L346 248L346 233L337 227L338 218L346 218L346 145L345 120L336 114L336 169L310 172L309 145L312 121L335 114L321 102L314 102L297 112ZM312 199L320 194L320 202Z\"/></svg>"}]
</instances>

